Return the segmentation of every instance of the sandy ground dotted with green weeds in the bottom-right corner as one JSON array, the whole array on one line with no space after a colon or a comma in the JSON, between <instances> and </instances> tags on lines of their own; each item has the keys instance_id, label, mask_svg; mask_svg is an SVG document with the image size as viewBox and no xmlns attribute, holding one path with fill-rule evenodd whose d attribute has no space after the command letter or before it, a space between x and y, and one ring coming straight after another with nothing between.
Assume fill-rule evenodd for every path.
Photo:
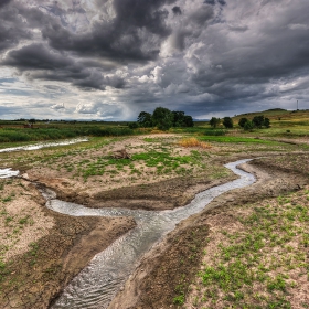
<instances>
[{"instance_id":1,"label":"sandy ground dotted with green weeds in the bottom-right corner","mask_svg":"<svg viewBox=\"0 0 309 309\"><path fill-rule=\"evenodd\" d=\"M308 195L301 191L275 203L252 205L247 215L235 210L242 227L222 230L216 253L206 253L207 263L191 297L195 306L291 308L299 281L309 280ZM183 300L183 295L179 297ZM184 303L181 299L174 303Z\"/></svg>"}]
</instances>

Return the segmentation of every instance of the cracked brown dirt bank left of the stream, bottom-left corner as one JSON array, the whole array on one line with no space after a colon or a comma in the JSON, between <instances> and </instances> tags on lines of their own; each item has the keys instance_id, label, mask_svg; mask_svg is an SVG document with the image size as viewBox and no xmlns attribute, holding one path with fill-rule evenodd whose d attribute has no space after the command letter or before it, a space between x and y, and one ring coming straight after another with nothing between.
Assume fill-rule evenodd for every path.
<instances>
[{"instance_id":1,"label":"cracked brown dirt bank left of the stream, bottom-left corner","mask_svg":"<svg viewBox=\"0 0 309 309\"><path fill-rule=\"evenodd\" d=\"M8 248L10 255L0 265L0 308L47 308L51 300L95 254L105 249L136 223L131 217L71 217L54 213L45 207L44 199L33 185L20 181L10 180L7 187L14 182L19 182L17 185L23 185L24 192L21 192L17 201L31 206L31 216L29 214L14 220L10 205L1 213L4 213L7 222L1 249ZM11 209L18 206L17 201ZM39 217L34 213L42 215ZM31 222L25 222L25 219ZM50 221L52 224L45 228ZM21 238L18 237L18 228L22 228ZM23 239L22 235L26 233L26 228L30 231L26 234L28 239ZM35 235L42 228L44 234L39 234L38 238ZM9 243L14 234L14 242ZM2 242L7 238L4 247ZM23 243L28 244L29 241L30 245L25 245L24 248L17 247ZM15 255L18 252L21 253Z\"/></svg>"}]
</instances>

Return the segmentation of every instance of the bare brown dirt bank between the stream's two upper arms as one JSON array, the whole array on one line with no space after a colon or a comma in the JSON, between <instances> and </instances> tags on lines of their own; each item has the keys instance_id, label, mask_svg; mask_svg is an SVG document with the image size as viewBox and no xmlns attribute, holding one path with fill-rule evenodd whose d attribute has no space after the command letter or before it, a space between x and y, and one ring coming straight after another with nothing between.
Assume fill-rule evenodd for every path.
<instances>
[{"instance_id":1,"label":"bare brown dirt bank between the stream's two upper arms","mask_svg":"<svg viewBox=\"0 0 309 309\"><path fill-rule=\"evenodd\" d=\"M127 207L160 211L183 206L196 193L233 179L236 179L236 175L228 174L220 180L212 180L204 173L199 177L174 178L157 183L128 185L108 191L95 187L93 194L72 190L67 180L64 179L40 179L40 182L54 190L60 200L93 209Z\"/></svg>"}]
</instances>

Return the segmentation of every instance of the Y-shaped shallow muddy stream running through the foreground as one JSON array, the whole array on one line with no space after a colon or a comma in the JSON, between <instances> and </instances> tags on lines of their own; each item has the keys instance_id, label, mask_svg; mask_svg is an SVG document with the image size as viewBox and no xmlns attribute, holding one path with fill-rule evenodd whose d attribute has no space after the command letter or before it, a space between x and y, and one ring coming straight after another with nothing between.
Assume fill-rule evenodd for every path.
<instances>
[{"instance_id":1,"label":"Y-shaped shallow muddy stream running through the foreground","mask_svg":"<svg viewBox=\"0 0 309 309\"><path fill-rule=\"evenodd\" d=\"M209 189L195 195L184 207L172 211L132 211L127 209L87 209L82 205L51 199L46 206L74 216L134 216L137 227L97 254L90 264L75 277L52 306L60 308L107 308L115 295L134 271L141 256L158 243L180 221L205 209L220 194L252 184L255 178L236 167L248 160L225 167L239 175L232 182Z\"/></svg>"}]
</instances>

